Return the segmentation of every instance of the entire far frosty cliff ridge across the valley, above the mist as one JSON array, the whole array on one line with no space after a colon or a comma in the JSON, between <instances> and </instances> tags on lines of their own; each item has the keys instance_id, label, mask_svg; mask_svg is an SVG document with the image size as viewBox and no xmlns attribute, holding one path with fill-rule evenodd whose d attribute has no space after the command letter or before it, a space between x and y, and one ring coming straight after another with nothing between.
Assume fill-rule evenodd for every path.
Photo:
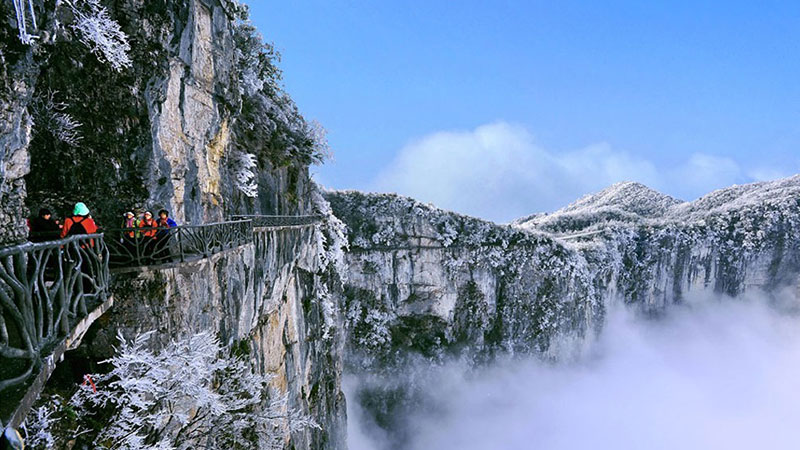
<instances>
[{"instance_id":1,"label":"entire far frosty cliff ridge across the valley, above the mist","mask_svg":"<svg viewBox=\"0 0 800 450\"><path fill-rule=\"evenodd\" d=\"M426 407L414 361L568 358L615 302L659 315L695 293L800 298L800 176L691 203L616 185L512 226L396 195L327 198L350 241L346 369L361 382L349 401L393 442L413 432L405 411Z\"/></svg>"}]
</instances>

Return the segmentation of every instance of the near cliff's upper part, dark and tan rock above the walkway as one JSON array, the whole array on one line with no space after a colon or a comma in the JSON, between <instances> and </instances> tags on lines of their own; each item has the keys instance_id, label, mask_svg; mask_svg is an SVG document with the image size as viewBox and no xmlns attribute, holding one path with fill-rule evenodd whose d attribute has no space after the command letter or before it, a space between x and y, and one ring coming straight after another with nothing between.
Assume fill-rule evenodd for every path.
<instances>
[{"instance_id":1,"label":"near cliff's upper part, dark and tan rock above the walkway","mask_svg":"<svg viewBox=\"0 0 800 450\"><path fill-rule=\"evenodd\" d=\"M119 70L83 42L65 3L34 4L34 45L19 44L13 12L2 24L0 54L15 62L4 192L57 216L84 201L107 227L134 208L166 208L181 223L308 210L316 143L280 90L274 50L237 2L102 2L131 43Z\"/></svg>"}]
</instances>

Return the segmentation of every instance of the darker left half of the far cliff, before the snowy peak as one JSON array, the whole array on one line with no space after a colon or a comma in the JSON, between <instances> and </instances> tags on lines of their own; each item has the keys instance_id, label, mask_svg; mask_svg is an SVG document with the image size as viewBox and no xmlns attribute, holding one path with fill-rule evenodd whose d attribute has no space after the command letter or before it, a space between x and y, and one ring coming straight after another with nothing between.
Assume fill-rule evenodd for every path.
<instances>
[{"instance_id":1,"label":"darker left half of the far cliff, before the snowy peak","mask_svg":"<svg viewBox=\"0 0 800 450\"><path fill-rule=\"evenodd\" d=\"M602 324L584 258L551 236L396 195L327 199L348 226L343 308L356 366L409 353L557 356Z\"/></svg>"}]
</instances>

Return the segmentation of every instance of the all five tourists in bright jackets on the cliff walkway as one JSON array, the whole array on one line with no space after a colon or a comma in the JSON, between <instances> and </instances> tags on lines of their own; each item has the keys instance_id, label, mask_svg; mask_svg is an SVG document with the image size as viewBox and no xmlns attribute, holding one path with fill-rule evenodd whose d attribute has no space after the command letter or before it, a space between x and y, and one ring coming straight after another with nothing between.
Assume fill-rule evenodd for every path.
<instances>
[{"instance_id":1,"label":"all five tourists in bright jackets on the cliff walkway","mask_svg":"<svg viewBox=\"0 0 800 450\"><path fill-rule=\"evenodd\" d=\"M128 211L123 215L119 234L113 238L118 239L130 255L144 256L148 259L169 259L170 228L177 226L166 209L160 210L158 217L153 217L150 211L141 213L139 217L133 211ZM82 202L75 204L72 215L64 219L63 224L53 217L52 211L42 208L37 217L28 220L28 228L30 230L28 240L31 242L94 234L100 230L89 208Z\"/></svg>"}]
</instances>

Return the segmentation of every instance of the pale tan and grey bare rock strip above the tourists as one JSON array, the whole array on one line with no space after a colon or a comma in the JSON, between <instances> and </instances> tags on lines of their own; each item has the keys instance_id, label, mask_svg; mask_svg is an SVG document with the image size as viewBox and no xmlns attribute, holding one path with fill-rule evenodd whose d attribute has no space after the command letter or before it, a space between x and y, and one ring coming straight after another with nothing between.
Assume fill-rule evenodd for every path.
<instances>
[{"instance_id":1,"label":"pale tan and grey bare rock strip above the tourists","mask_svg":"<svg viewBox=\"0 0 800 450\"><path fill-rule=\"evenodd\" d=\"M192 1L187 9L165 76L146 90L148 203L165 205L181 222L212 222L223 216L222 163L231 146L222 102L231 95L232 25L221 3Z\"/></svg>"}]
</instances>

